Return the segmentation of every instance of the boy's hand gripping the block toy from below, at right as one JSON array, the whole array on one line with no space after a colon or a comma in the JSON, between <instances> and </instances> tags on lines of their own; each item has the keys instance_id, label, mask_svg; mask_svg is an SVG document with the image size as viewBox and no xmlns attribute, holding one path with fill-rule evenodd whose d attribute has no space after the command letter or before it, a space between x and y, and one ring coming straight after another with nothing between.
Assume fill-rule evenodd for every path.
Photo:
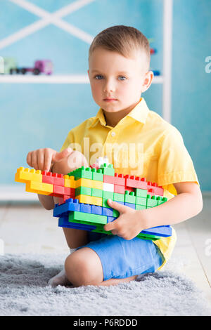
<instances>
[{"instance_id":1,"label":"boy's hand gripping the block toy from below, at right","mask_svg":"<svg viewBox=\"0 0 211 330\"><path fill-rule=\"evenodd\" d=\"M146 218L145 213L134 210L129 206L124 206L108 199L108 205L120 212L120 216L111 223L104 225L104 230L110 230L113 235L118 235L124 239L133 239L144 229ZM144 211L144 210L143 210ZM143 216L141 216L143 214Z\"/></svg>"}]
</instances>

